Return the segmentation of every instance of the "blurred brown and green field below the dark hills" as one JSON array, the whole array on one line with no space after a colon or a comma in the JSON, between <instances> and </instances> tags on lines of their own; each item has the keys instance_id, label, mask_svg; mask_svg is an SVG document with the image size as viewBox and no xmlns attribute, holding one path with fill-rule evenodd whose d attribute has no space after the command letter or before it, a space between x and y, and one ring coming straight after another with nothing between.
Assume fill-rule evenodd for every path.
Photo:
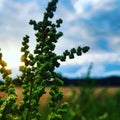
<instances>
[{"instance_id":1,"label":"blurred brown and green field below the dark hills","mask_svg":"<svg viewBox=\"0 0 120 120\"><path fill-rule=\"evenodd\" d=\"M48 102L50 88L40 98L42 120L49 114ZM69 102L69 108L63 120L120 120L120 88L116 87L60 87L64 92L64 100ZM16 87L17 103L22 100L22 89ZM6 98L4 92L0 96ZM61 101L61 102L63 102ZM60 104L61 104L60 102Z\"/></svg>"}]
</instances>

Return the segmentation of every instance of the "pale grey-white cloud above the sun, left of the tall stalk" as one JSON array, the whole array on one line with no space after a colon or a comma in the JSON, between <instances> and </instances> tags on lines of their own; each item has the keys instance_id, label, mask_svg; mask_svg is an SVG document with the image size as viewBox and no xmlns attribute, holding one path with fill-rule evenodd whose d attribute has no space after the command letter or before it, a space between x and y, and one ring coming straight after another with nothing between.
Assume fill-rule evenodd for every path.
<instances>
[{"instance_id":1,"label":"pale grey-white cloud above the sun, left of the tall stalk","mask_svg":"<svg viewBox=\"0 0 120 120\"><path fill-rule=\"evenodd\" d=\"M41 7L35 1L30 2L19 2L19 1L7 1L4 4L4 9L0 11L2 17L0 19L0 48L9 49L9 43L17 48L21 47L22 38L25 34L31 36L30 43L33 46L35 41L32 27L30 26L29 20L31 18L40 20ZM6 44L7 43L7 44Z\"/></svg>"}]
</instances>

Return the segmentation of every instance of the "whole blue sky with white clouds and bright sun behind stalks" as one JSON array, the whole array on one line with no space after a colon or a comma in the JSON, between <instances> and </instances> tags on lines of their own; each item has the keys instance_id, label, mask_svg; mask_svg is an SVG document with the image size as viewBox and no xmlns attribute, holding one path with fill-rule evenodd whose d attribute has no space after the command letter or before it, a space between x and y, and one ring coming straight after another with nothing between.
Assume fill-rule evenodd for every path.
<instances>
[{"instance_id":1,"label":"whole blue sky with white clouds and bright sun behind stalks","mask_svg":"<svg viewBox=\"0 0 120 120\"><path fill-rule=\"evenodd\" d=\"M0 48L12 76L19 75L22 38L30 36L30 50L35 37L29 20L40 21L50 0L0 0ZM55 18L63 19L58 31L64 36L55 52L89 46L88 53L61 62L56 69L65 77L85 77L93 64L91 77L120 76L120 0L59 0Z\"/></svg>"}]
</instances>

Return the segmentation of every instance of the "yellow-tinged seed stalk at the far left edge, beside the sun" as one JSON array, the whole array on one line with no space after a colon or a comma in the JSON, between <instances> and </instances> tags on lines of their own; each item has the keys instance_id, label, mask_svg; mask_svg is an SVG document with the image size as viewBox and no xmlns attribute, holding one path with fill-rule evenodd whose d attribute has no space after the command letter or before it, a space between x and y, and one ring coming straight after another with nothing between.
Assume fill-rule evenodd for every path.
<instances>
[{"instance_id":1,"label":"yellow-tinged seed stalk at the far left edge, beside the sun","mask_svg":"<svg viewBox=\"0 0 120 120\"><path fill-rule=\"evenodd\" d=\"M0 91L7 93L7 98L0 96L0 120L7 120L11 116L15 116L18 111L15 87L12 83L12 78L9 76L11 70L7 69L6 66L7 63L2 59L2 53L0 51L0 73L4 79L4 84L0 85Z\"/></svg>"}]
</instances>

